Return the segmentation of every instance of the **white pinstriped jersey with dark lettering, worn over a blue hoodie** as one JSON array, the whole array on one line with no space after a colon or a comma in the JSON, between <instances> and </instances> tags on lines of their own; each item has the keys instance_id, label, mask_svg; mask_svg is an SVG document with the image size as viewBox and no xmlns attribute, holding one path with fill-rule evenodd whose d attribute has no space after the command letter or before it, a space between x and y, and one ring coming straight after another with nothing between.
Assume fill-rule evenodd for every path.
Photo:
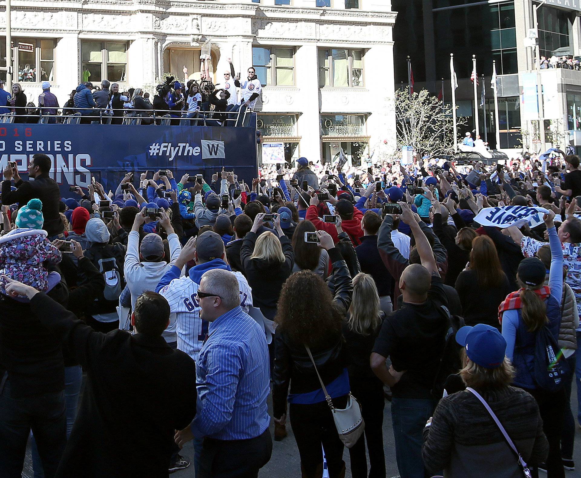
<instances>
[{"instance_id":1,"label":"white pinstriped jersey with dark lettering, worn over a blue hoodie","mask_svg":"<svg viewBox=\"0 0 581 478\"><path fill-rule=\"evenodd\" d=\"M252 289L246 277L241 272L233 272L240 286L240 306L248 313L252 307ZM200 306L195 298L198 285L188 276L174 279L163 287L159 293L170 304L171 313L175 313L178 336L178 350L187 353L193 360L198 359L198 353L208 333L208 322L200 318Z\"/></svg>"}]
</instances>

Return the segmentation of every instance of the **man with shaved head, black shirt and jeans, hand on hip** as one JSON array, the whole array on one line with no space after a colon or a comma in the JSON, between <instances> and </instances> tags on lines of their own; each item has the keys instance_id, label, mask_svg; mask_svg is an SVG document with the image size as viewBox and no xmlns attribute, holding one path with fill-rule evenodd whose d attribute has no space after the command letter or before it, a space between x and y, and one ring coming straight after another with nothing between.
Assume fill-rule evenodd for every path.
<instances>
[{"instance_id":1,"label":"man with shaved head, black shirt and jeans, hand on hip","mask_svg":"<svg viewBox=\"0 0 581 478\"><path fill-rule=\"evenodd\" d=\"M399 203L401 220L415 237L420 264L410 264L399 279L403 305L383 321L371 353L371 368L392 389L392 423L400 476L424 478L422 433L432 416L431 390L444 352L448 305L432 248L419 216ZM385 361L390 358L388 368Z\"/></svg>"}]
</instances>

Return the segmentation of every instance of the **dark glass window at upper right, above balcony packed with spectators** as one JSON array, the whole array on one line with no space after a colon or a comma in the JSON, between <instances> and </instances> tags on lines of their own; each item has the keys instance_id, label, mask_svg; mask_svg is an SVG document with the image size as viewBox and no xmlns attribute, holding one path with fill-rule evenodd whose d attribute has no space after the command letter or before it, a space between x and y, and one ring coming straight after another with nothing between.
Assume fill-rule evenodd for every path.
<instances>
[{"instance_id":1,"label":"dark glass window at upper right, above balcony packed with spectators","mask_svg":"<svg viewBox=\"0 0 581 478\"><path fill-rule=\"evenodd\" d=\"M569 12L544 5L538 13L540 54L547 58L572 55Z\"/></svg>"}]
</instances>

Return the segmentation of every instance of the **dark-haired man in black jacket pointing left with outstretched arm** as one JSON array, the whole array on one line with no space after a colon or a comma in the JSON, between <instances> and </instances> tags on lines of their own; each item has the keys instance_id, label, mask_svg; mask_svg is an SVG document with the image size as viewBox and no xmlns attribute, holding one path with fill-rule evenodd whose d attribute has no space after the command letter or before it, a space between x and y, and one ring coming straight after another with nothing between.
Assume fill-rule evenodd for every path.
<instances>
[{"instance_id":1,"label":"dark-haired man in black jacket pointing left with outstretched arm","mask_svg":"<svg viewBox=\"0 0 581 478\"><path fill-rule=\"evenodd\" d=\"M131 316L136 333L104 335L33 287L8 280L7 288L11 298L30 300L38 327L59 347L64 342L87 372L61 476L167 476L174 430L192 421L197 397L195 363L161 337L170 322L167 300L144 292Z\"/></svg>"}]
</instances>

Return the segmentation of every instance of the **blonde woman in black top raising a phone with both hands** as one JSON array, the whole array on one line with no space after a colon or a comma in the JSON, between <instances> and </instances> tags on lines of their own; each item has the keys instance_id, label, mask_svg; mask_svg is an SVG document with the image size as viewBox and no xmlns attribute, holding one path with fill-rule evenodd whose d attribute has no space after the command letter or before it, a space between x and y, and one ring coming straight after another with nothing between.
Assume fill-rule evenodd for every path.
<instances>
[{"instance_id":1,"label":"blonde woman in black top raising a phone with both hands","mask_svg":"<svg viewBox=\"0 0 581 478\"><path fill-rule=\"evenodd\" d=\"M270 320L274 319L277 312L282 284L292 273L295 264L295 253L290 239L282 231L280 216L274 216L277 234L267 230L257 235L259 229L264 229L264 213L259 213L240 249L244 275L252 287L252 302Z\"/></svg>"}]
</instances>

